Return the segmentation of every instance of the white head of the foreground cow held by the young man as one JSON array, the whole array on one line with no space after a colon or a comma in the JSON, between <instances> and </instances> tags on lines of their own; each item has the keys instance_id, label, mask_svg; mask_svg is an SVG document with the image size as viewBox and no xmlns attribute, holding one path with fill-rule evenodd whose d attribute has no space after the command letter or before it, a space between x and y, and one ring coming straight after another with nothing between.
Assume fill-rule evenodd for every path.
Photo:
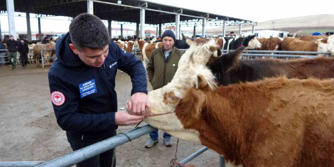
<instances>
[{"instance_id":1,"label":"white head of the foreground cow held by the young man","mask_svg":"<svg viewBox=\"0 0 334 167\"><path fill-rule=\"evenodd\" d=\"M151 113L146 113L146 115L174 112L187 89L200 87L200 85L198 85L199 78L207 80L212 90L216 88L214 76L205 65L209 60L222 55L219 46L213 40L201 38L188 42L190 48L181 56L178 69L172 81L166 86L148 93ZM182 125L175 117L175 113L148 117L145 119L145 122L159 129L172 131L175 128L182 128ZM174 127L169 127L169 123L171 122L173 122ZM167 123L168 126L165 126Z\"/></svg>"}]
</instances>

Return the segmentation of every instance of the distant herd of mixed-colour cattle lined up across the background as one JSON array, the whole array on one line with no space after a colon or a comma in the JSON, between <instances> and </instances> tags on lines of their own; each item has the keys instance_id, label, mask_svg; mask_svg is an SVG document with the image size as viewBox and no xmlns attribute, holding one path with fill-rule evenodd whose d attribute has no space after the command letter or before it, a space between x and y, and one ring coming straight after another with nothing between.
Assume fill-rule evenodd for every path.
<instances>
[{"instance_id":1,"label":"distant herd of mixed-colour cattle lined up across the background","mask_svg":"<svg viewBox=\"0 0 334 167\"><path fill-rule=\"evenodd\" d=\"M183 34L182 34L183 35ZM175 41L175 47L179 49L188 49L189 44L186 42L187 37L183 35L183 39L177 39ZM255 35L249 35L246 37L241 37L240 35L226 36L213 38L214 41L219 45L220 48L224 50L235 50L240 46L245 46L245 49L249 50L284 50L284 51L319 51L319 52L329 52L332 56L334 55L334 35L331 36L301 36L298 38L287 37L271 37L271 38L258 38ZM34 60L41 58L41 50L54 50L55 42L50 41L47 44L41 44L33 42L29 44L28 53L29 63L33 63ZM150 59L151 52L158 47L162 46L161 40L158 41L153 38L148 43L145 40L124 40L117 39L114 40L119 47L127 52L132 52L135 48L140 50L144 66L146 67L147 62ZM307 55L307 54L306 54ZM43 51L43 57L53 57L54 51ZM325 56L325 54L318 54L318 56ZM50 58L45 58L45 63L49 63ZM52 58L54 60L54 58ZM19 63L19 61L17 61ZM36 66L40 65L39 61L35 61Z\"/></svg>"}]
</instances>

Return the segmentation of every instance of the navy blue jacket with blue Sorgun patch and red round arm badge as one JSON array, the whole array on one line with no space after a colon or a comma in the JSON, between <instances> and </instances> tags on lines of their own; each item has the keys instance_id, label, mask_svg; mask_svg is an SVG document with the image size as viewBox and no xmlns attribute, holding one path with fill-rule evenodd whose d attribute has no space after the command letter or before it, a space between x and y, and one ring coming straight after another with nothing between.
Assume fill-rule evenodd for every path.
<instances>
[{"instance_id":1,"label":"navy blue jacket with blue Sorgun patch and red round arm badge","mask_svg":"<svg viewBox=\"0 0 334 167\"><path fill-rule=\"evenodd\" d=\"M69 48L67 33L56 43L56 57L49 70L50 92L64 94L65 102L53 105L58 125L65 131L82 134L96 134L117 129L115 112L117 96L115 77L117 69L127 72L132 79L131 95L137 92L147 94L146 71L141 60L124 51L111 41L109 53L101 67L83 63ZM97 93L82 97L79 87L95 79ZM81 98L82 97L82 98Z\"/></svg>"}]
</instances>

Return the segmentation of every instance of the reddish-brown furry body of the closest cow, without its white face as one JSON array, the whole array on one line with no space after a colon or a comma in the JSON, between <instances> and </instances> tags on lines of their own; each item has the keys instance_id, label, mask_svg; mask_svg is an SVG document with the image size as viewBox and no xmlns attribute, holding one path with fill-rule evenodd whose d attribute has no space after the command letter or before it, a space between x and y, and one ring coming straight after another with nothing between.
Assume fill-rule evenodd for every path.
<instances>
[{"instance_id":1,"label":"reddish-brown furry body of the closest cow, without its white face","mask_svg":"<svg viewBox=\"0 0 334 167\"><path fill-rule=\"evenodd\" d=\"M333 101L334 79L271 78L191 88L176 116L234 165L333 167Z\"/></svg>"}]
</instances>

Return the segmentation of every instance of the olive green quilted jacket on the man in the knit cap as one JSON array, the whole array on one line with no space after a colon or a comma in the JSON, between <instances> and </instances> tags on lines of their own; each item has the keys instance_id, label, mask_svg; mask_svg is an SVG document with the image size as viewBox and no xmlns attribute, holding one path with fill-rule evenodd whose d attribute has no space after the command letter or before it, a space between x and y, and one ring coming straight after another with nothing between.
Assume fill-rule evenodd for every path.
<instances>
[{"instance_id":1,"label":"olive green quilted jacket on the man in the knit cap","mask_svg":"<svg viewBox=\"0 0 334 167\"><path fill-rule=\"evenodd\" d=\"M173 79L180 58L181 50L174 46L166 63L162 47L152 51L150 60L147 63L147 73L153 90L162 88Z\"/></svg>"}]
</instances>

